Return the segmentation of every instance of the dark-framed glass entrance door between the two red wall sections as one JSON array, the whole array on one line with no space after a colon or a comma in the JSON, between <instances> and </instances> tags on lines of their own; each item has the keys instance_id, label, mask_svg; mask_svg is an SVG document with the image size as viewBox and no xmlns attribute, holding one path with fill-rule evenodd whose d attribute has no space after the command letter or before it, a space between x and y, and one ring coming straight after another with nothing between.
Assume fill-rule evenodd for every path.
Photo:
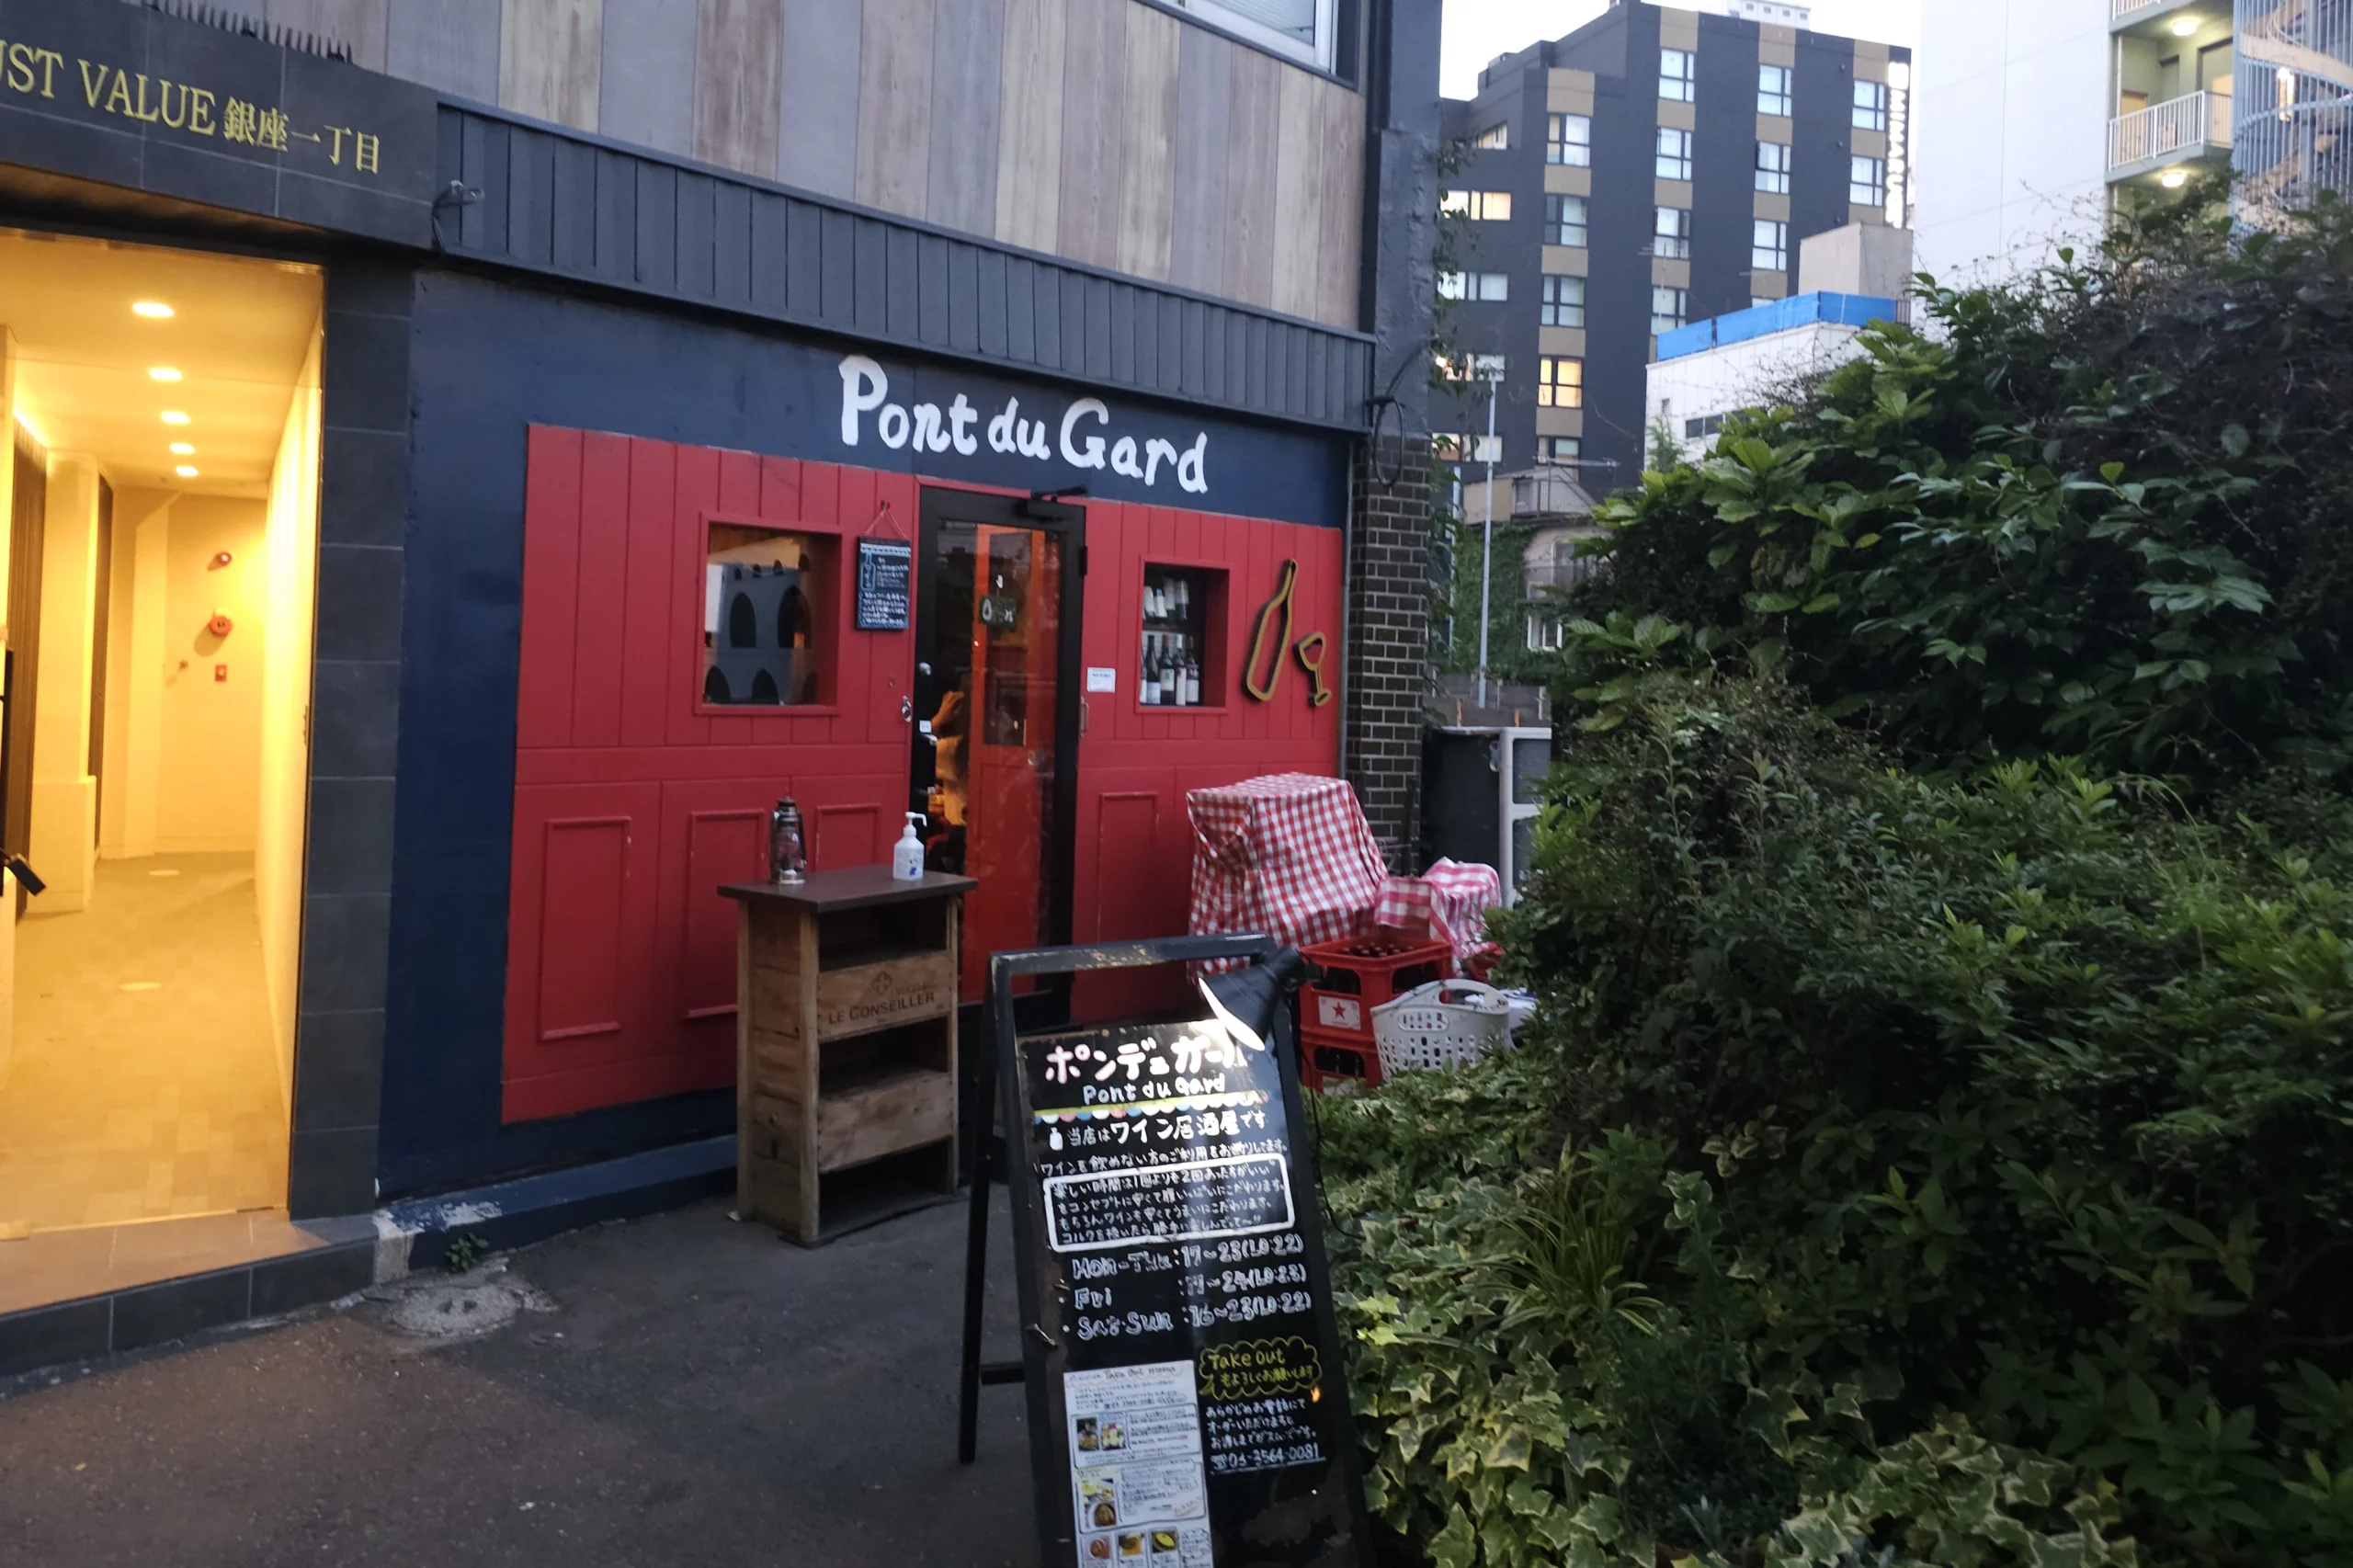
<instances>
[{"instance_id":1,"label":"dark-framed glass entrance door between the two red wall sections","mask_svg":"<svg viewBox=\"0 0 2353 1568\"><path fill-rule=\"evenodd\" d=\"M927 490L908 810L965 897L962 1001L988 954L1071 935L1078 556L1071 506Z\"/></svg>"}]
</instances>

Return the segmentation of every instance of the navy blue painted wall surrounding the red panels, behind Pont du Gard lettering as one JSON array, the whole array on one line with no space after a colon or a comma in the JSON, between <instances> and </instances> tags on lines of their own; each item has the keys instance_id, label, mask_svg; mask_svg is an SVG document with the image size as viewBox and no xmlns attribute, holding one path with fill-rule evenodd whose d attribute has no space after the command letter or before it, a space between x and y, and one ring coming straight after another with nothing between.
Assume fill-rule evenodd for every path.
<instances>
[{"instance_id":1,"label":"navy blue painted wall surrounding the red panels, behind Pont du Gard lettering","mask_svg":"<svg viewBox=\"0 0 2353 1568\"><path fill-rule=\"evenodd\" d=\"M591 299L419 273L402 624L393 928L384 1041L384 1196L600 1158L734 1125L732 1095L499 1123L506 902L515 798L525 428L555 424L866 466L908 466L868 428L840 445L842 348ZM1082 391L889 365L894 400L1019 393L1024 414ZM988 403L993 412L995 403ZM1162 469L1151 492L1099 471L944 454L976 483L1087 480L1136 499L1337 527L1346 443L1115 403L1113 433L1209 433L1209 497ZM1089 426L1092 428L1092 426ZM1179 445L1184 445L1179 440ZM892 461L887 461L892 459ZM991 478L991 476L998 478ZM1019 478L1014 478L1019 476ZM1231 499L1228 499L1231 497ZM322 629L325 638L325 629Z\"/></svg>"}]
</instances>

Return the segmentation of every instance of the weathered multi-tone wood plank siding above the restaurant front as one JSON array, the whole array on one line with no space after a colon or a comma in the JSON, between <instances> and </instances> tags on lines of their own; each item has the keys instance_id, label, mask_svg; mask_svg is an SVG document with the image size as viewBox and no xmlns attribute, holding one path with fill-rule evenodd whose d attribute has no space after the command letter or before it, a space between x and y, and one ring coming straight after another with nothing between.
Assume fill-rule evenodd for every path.
<instances>
[{"instance_id":1,"label":"weathered multi-tone wood plank siding above the restaurant front","mask_svg":"<svg viewBox=\"0 0 2353 1568\"><path fill-rule=\"evenodd\" d=\"M1141 0L252 0L534 120L1332 327L1365 104Z\"/></svg>"}]
</instances>

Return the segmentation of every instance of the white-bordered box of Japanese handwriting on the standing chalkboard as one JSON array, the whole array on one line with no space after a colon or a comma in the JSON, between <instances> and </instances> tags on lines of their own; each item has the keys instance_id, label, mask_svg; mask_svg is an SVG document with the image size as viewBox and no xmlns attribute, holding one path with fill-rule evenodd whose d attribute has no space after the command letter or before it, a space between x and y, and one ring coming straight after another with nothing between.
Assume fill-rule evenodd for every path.
<instances>
[{"instance_id":1,"label":"white-bordered box of Japanese handwriting on the standing chalkboard","mask_svg":"<svg viewBox=\"0 0 2353 1568\"><path fill-rule=\"evenodd\" d=\"M1292 1175L1280 1154L1045 1180L1047 1245L1056 1253L1249 1236L1289 1229L1292 1217Z\"/></svg>"}]
</instances>

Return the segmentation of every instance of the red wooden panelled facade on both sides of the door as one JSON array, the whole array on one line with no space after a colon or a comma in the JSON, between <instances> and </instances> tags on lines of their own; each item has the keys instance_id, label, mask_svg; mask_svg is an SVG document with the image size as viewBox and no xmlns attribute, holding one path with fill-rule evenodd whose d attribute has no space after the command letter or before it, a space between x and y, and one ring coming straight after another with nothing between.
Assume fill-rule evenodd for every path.
<instances>
[{"instance_id":1,"label":"red wooden panelled facade on both sides of the door","mask_svg":"<svg viewBox=\"0 0 2353 1568\"><path fill-rule=\"evenodd\" d=\"M734 1076L734 906L767 808L800 800L816 866L880 862L908 789L913 633L847 624L859 534L918 534L906 473L534 426L525 499L504 1118L718 1088ZM885 509L889 520L882 520ZM826 706L701 704L708 525L838 534L812 584ZM1308 706L1289 655L1273 702L1242 695L1259 603L1299 563L1294 640L1322 631L1339 676L1341 532L1162 506L1087 504L1073 939L1186 925L1184 793L1261 772L1334 772L1339 702ZM1226 572L1224 702L1136 699L1144 567ZM920 614L920 607L918 607ZM1082 1015L1141 1001L1082 989Z\"/></svg>"}]
</instances>

